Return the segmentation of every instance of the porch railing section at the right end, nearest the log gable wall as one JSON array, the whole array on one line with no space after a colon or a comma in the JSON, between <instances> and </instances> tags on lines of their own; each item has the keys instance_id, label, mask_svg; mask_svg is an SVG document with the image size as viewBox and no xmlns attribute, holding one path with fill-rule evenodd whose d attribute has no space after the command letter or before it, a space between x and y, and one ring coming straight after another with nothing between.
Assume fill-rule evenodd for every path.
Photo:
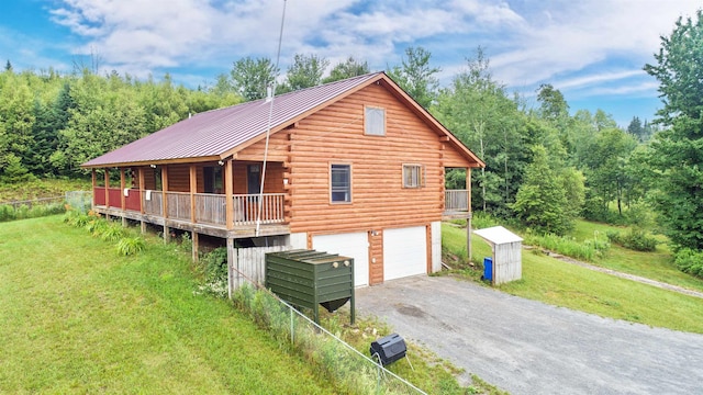
<instances>
[{"instance_id":1,"label":"porch railing section at the right end, nearest the log gable wall","mask_svg":"<svg viewBox=\"0 0 703 395\"><path fill-rule=\"evenodd\" d=\"M280 224L284 222L284 193L265 193L261 199L261 224ZM254 225L259 207L258 194L234 195L234 225Z\"/></svg>"}]
</instances>

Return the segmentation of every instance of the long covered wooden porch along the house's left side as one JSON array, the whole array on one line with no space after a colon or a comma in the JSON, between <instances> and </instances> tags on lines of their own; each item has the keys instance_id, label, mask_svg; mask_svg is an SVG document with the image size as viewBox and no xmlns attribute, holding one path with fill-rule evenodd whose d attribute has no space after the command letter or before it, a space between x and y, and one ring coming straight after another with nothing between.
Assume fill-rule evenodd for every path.
<instances>
[{"instance_id":1,"label":"long covered wooden porch along the house's left side","mask_svg":"<svg viewBox=\"0 0 703 395\"><path fill-rule=\"evenodd\" d=\"M232 159L93 168L93 210L138 221L143 229L164 226L166 238L168 228L228 239L286 235L286 181L282 162L266 169L263 162Z\"/></svg>"}]
</instances>

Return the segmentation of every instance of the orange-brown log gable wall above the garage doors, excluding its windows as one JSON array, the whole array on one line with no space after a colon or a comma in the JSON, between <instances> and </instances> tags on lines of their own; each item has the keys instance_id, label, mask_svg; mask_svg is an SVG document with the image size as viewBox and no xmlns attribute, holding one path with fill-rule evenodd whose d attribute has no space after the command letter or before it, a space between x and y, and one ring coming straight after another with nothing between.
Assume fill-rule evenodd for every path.
<instances>
[{"instance_id":1,"label":"orange-brown log gable wall above the garage doors, excluding its windows","mask_svg":"<svg viewBox=\"0 0 703 395\"><path fill-rule=\"evenodd\" d=\"M386 136L365 135L365 105L386 109ZM454 149L377 84L300 121L289 144L293 233L357 232L440 221L444 167L470 166L458 154L445 160L446 151ZM330 203L330 163L352 165L352 204ZM425 167L425 187L403 188L403 163Z\"/></svg>"}]
</instances>

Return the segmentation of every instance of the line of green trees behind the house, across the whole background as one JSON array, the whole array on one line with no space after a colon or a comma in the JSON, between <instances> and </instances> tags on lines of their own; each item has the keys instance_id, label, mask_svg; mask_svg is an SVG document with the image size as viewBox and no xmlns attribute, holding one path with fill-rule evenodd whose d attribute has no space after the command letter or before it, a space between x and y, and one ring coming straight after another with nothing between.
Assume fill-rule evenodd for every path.
<instances>
[{"instance_id":1,"label":"line of green trees behind the house, across the whole background","mask_svg":"<svg viewBox=\"0 0 703 395\"><path fill-rule=\"evenodd\" d=\"M652 210L681 247L703 249L703 27L680 20L644 69L660 82L656 124L620 127L604 110L571 111L545 83L536 105L509 92L479 47L442 87L423 47L405 49L388 75L484 162L472 172L472 205L540 233L565 234L577 217L643 224ZM693 49L692 49L693 48ZM146 81L87 68L0 74L0 180L85 177L79 165L189 114L370 72L355 57L330 67L297 54L284 75L269 58L245 57L208 87L187 89L167 75ZM326 70L330 69L328 72ZM279 77L280 75L280 77ZM466 188L464 170L447 188Z\"/></svg>"}]
</instances>

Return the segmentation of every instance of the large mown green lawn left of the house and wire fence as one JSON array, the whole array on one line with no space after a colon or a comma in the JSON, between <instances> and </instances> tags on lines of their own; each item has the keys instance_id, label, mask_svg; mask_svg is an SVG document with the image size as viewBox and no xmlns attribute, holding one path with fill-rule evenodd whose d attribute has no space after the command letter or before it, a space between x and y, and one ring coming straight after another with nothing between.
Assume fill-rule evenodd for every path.
<instances>
[{"instance_id":1,"label":"large mown green lawn left of the house and wire fence","mask_svg":"<svg viewBox=\"0 0 703 395\"><path fill-rule=\"evenodd\" d=\"M172 245L119 257L60 216L0 224L0 393L327 394Z\"/></svg>"}]
</instances>

